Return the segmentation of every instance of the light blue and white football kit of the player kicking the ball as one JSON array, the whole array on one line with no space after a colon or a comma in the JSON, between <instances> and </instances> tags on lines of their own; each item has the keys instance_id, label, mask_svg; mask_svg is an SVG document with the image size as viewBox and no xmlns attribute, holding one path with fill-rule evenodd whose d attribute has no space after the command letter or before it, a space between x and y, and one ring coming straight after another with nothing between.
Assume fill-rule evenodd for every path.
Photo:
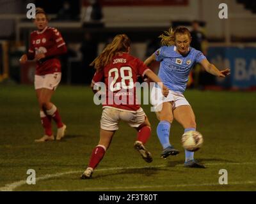
<instances>
[{"instance_id":1,"label":"light blue and white football kit of the player kicking the ball","mask_svg":"<svg viewBox=\"0 0 256 204\"><path fill-rule=\"evenodd\" d=\"M187 55L181 55L176 51L175 46L163 46L156 50L156 61L160 62L158 77L161 78L163 84L170 89L169 95L163 99L166 101L173 101L173 108L180 105L189 105L188 101L183 96L186 90L188 77L191 69L196 63L206 59L202 52L189 47ZM156 91L155 91L156 92ZM157 105L159 105L159 103ZM157 106L156 105L156 106ZM168 121L161 121L157 126L157 136L163 149L172 147L170 144L170 128L171 124ZM195 128L185 129L184 132L195 130ZM193 159L193 152L185 150L186 162Z\"/></svg>"}]
</instances>

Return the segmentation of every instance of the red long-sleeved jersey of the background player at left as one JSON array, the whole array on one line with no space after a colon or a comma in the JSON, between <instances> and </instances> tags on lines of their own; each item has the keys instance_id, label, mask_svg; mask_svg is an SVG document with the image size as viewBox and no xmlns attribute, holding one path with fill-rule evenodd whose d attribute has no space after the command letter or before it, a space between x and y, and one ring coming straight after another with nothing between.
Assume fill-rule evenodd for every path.
<instances>
[{"instance_id":1,"label":"red long-sleeved jersey of the background player at left","mask_svg":"<svg viewBox=\"0 0 256 204\"><path fill-rule=\"evenodd\" d=\"M61 63L58 55L67 52L65 41L60 32L54 27L45 27L42 31L33 31L30 34L30 56L44 53L45 58L36 61L36 75L46 75L61 72Z\"/></svg>"}]
</instances>

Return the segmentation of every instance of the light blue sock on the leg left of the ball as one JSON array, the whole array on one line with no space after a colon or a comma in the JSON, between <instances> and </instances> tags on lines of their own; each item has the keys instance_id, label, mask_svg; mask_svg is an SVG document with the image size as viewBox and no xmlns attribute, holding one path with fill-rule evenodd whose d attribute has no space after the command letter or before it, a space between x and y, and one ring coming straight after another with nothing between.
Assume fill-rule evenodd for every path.
<instances>
[{"instance_id":1,"label":"light blue sock on the leg left of the ball","mask_svg":"<svg viewBox=\"0 0 256 204\"><path fill-rule=\"evenodd\" d=\"M169 140L170 128L171 128L171 124L166 120L160 121L157 126L157 129L156 129L157 136L159 138L159 141L161 142L161 145L163 146L163 149L171 146L170 140Z\"/></svg>"}]
</instances>

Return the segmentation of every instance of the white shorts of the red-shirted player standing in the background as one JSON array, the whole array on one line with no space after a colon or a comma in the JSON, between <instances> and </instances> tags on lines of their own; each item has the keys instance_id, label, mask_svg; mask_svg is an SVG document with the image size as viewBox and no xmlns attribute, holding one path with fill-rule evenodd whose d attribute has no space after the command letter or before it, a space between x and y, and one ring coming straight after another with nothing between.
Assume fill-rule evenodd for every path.
<instances>
[{"instance_id":1,"label":"white shorts of the red-shirted player standing in the background","mask_svg":"<svg viewBox=\"0 0 256 204\"><path fill-rule=\"evenodd\" d=\"M48 75L35 75L35 89L51 89L56 90L60 84L61 73L53 73Z\"/></svg>"}]
</instances>

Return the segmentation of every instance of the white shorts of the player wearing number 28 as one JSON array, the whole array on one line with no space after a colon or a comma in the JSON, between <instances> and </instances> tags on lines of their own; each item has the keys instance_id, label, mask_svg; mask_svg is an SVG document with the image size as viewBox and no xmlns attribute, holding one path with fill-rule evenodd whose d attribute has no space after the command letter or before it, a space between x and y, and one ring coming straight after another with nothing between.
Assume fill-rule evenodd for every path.
<instances>
[{"instance_id":1,"label":"white shorts of the player wearing number 28","mask_svg":"<svg viewBox=\"0 0 256 204\"><path fill-rule=\"evenodd\" d=\"M129 112L121 109L105 107L102 111L100 128L108 131L118 129L118 122L124 120L132 128L138 128L146 119L146 114L140 108L136 112Z\"/></svg>"}]
</instances>

